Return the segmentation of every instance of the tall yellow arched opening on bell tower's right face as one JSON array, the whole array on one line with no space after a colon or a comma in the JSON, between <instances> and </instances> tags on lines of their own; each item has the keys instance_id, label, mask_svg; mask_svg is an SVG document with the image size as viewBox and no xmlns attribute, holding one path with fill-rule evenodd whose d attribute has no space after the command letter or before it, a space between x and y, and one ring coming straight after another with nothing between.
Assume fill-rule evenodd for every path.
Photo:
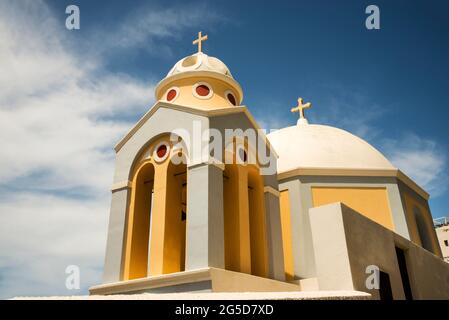
<instances>
[{"instance_id":1,"label":"tall yellow arched opening on bell tower's right face","mask_svg":"<svg viewBox=\"0 0 449 320\"><path fill-rule=\"evenodd\" d=\"M226 164L223 172L225 268L266 277L268 244L263 177L257 165L236 161L236 153L243 152L235 151L234 146L230 157L233 163Z\"/></svg>"}]
</instances>

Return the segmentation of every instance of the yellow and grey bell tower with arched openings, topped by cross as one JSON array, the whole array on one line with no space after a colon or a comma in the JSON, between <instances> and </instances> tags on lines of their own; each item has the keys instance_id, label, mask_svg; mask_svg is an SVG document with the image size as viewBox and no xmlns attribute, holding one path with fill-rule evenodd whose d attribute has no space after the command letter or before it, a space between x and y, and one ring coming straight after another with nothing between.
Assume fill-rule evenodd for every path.
<instances>
[{"instance_id":1,"label":"yellow and grey bell tower with arched openings, topped by cross","mask_svg":"<svg viewBox=\"0 0 449 320\"><path fill-rule=\"evenodd\" d=\"M91 293L297 289L284 282L276 154L205 40L115 147L104 280Z\"/></svg>"}]
</instances>

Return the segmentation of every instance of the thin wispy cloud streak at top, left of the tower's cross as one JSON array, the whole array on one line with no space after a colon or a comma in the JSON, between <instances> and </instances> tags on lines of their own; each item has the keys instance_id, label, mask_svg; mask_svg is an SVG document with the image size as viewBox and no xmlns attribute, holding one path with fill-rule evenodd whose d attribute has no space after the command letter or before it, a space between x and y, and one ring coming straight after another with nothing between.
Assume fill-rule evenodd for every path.
<instances>
[{"instance_id":1,"label":"thin wispy cloud streak at top, left of the tower's cross","mask_svg":"<svg viewBox=\"0 0 449 320\"><path fill-rule=\"evenodd\" d=\"M185 36L185 30L199 27L203 31L211 31L218 22L229 22L206 2L179 3L171 7L148 5L124 13L123 16L124 20L120 24L91 33L89 41L83 47L89 51L91 58L109 54L111 50L117 53L129 48L144 49L146 53L158 56L172 56L173 46L168 41L159 41L160 39L171 39L173 43L173 40L180 40ZM190 36L193 39L195 33ZM98 39L101 39L101 46L98 45Z\"/></svg>"}]
</instances>

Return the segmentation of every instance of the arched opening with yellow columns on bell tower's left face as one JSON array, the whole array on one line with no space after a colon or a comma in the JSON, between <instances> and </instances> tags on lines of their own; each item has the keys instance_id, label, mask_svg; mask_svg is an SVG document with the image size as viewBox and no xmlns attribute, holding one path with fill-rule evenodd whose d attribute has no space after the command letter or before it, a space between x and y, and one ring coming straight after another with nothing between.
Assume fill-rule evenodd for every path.
<instances>
[{"instance_id":1,"label":"arched opening with yellow columns on bell tower's left face","mask_svg":"<svg viewBox=\"0 0 449 320\"><path fill-rule=\"evenodd\" d=\"M147 149L132 178L125 280L185 270L186 158L164 139Z\"/></svg>"}]
</instances>

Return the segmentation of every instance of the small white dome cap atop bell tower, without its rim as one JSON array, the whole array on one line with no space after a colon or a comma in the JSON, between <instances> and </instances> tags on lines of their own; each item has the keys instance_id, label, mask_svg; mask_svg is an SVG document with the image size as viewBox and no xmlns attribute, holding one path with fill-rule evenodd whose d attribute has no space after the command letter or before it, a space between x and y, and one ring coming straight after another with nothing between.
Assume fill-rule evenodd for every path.
<instances>
[{"instance_id":1,"label":"small white dome cap atop bell tower, without its rim","mask_svg":"<svg viewBox=\"0 0 449 320\"><path fill-rule=\"evenodd\" d=\"M167 78L187 71L216 72L232 78L229 68L223 63L223 61L215 57L209 57L207 54L202 52L195 53L179 60L168 72Z\"/></svg>"}]
</instances>

